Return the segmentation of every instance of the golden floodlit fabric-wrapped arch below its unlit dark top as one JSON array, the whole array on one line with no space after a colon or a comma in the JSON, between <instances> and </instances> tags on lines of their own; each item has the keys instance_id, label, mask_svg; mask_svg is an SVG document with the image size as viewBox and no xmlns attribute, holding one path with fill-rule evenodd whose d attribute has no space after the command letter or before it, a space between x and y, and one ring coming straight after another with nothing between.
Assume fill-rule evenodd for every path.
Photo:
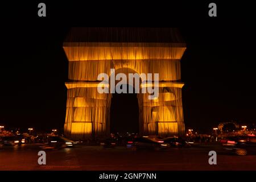
<instances>
[{"instance_id":1,"label":"golden floodlit fabric-wrapped arch below its unlit dark top","mask_svg":"<svg viewBox=\"0 0 256 182\"><path fill-rule=\"evenodd\" d=\"M168 34L175 37L171 32ZM77 34L71 31L71 35ZM159 73L158 97L148 100L148 93L137 93L139 134L165 137L185 133L181 97L184 83L180 82L180 59L186 49L183 42L77 42L72 38L63 44L69 61L69 82L65 83L68 92L64 134L67 137L89 139L110 135L112 94L97 92L98 86L110 88L110 83L99 85L97 81L100 73L110 75L110 69L125 75ZM139 89L151 86L141 83Z\"/></svg>"}]
</instances>

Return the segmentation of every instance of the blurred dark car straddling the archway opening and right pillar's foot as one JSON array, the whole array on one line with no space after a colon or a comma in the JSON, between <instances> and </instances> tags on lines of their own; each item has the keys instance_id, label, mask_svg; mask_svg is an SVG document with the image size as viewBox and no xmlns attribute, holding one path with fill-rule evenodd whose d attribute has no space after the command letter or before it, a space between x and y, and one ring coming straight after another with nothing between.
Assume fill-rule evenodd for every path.
<instances>
[{"instance_id":1,"label":"blurred dark car straddling the archway opening and right pillar's foot","mask_svg":"<svg viewBox=\"0 0 256 182\"><path fill-rule=\"evenodd\" d=\"M127 145L129 145L129 148L132 148L133 150L140 150L140 149L162 150L170 147L170 144L164 143L162 139L156 140L150 137L134 138L133 141L128 141Z\"/></svg>"}]
</instances>

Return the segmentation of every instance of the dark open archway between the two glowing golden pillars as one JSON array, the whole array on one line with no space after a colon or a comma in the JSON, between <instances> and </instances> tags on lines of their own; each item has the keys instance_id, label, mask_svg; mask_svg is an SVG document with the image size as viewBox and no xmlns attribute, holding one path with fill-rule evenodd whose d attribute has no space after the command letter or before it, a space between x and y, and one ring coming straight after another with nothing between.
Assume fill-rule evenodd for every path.
<instances>
[{"instance_id":1,"label":"dark open archway between the two glowing golden pillars","mask_svg":"<svg viewBox=\"0 0 256 182\"><path fill-rule=\"evenodd\" d=\"M127 85L127 89L130 85ZM131 86L132 87L132 86ZM139 133L139 106L136 93L114 93L110 107L110 133Z\"/></svg>"}]
</instances>

